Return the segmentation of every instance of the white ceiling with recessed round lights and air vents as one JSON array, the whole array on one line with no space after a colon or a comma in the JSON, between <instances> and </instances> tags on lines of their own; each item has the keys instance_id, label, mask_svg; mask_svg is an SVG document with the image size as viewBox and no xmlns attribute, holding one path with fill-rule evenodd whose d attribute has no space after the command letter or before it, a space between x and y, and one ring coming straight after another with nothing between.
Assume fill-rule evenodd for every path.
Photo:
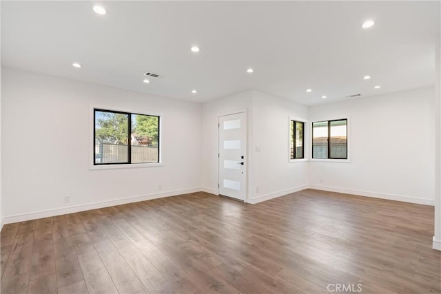
<instances>
[{"instance_id":1,"label":"white ceiling with recessed round lights and air vents","mask_svg":"<svg viewBox=\"0 0 441 294\"><path fill-rule=\"evenodd\" d=\"M198 102L256 89L314 105L435 81L439 1L108 1L104 16L94 4L1 1L1 62ZM145 84L147 70L164 77Z\"/></svg>"}]
</instances>

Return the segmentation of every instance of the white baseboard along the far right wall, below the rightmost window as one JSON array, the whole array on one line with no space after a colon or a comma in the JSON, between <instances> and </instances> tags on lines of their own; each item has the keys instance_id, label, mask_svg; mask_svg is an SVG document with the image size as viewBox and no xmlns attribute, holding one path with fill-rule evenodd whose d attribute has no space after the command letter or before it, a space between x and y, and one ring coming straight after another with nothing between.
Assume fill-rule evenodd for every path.
<instances>
[{"instance_id":1,"label":"white baseboard along the far right wall, below the rightmost window","mask_svg":"<svg viewBox=\"0 0 441 294\"><path fill-rule=\"evenodd\" d=\"M409 202L409 203L414 203L414 204L424 204L424 205L431 205L431 206L435 205L435 200L427 199L427 198L414 198L414 197L409 197L409 196L400 196L400 195L393 195L393 194L387 194L387 193L376 193L376 192L370 192L370 191L360 191L360 190L328 187L328 186L322 186L322 185L309 185L309 188L316 189L316 190L322 190L322 191L330 191L330 192L345 193L345 194L352 194L352 195L372 197L372 198L380 198L380 199L386 199L386 200Z\"/></svg>"}]
</instances>

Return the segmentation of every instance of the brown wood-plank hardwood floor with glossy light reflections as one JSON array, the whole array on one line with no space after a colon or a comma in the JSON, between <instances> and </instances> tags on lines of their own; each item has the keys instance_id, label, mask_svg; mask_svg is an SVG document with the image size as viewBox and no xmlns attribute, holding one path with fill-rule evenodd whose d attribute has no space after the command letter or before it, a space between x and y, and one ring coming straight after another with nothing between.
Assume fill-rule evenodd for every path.
<instances>
[{"instance_id":1,"label":"brown wood-plank hardwood floor with glossy light reflections","mask_svg":"<svg viewBox=\"0 0 441 294\"><path fill-rule=\"evenodd\" d=\"M192 193L6 224L1 293L441 293L432 235L424 205Z\"/></svg>"}]
</instances>

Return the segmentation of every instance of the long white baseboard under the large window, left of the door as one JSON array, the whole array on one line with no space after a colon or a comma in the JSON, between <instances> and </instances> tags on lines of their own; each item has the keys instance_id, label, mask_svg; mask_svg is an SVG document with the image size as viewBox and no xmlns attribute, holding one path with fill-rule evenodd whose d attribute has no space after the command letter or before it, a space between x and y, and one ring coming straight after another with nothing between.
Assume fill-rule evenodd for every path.
<instances>
[{"instance_id":1,"label":"long white baseboard under the large window, left of the door","mask_svg":"<svg viewBox=\"0 0 441 294\"><path fill-rule=\"evenodd\" d=\"M33 212L33 213L17 214L15 216L6 216L5 218L3 218L1 224L3 227L3 224L10 224L12 222L24 222L25 220L37 220L39 218L49 218L51 216L61 216L66 213L87 211L90 209L99 209L99 208L103 208L103 207L111 207L114 205L127 204L127 203L139 202L139 201L145 201L145 200L152 200L152 199L157 199L157 198L165 198L165 197L170 197L170 196L178 196L178 195L187 194L187 193L195 193L198 191L201 191L201 187L174 190L174 191L166 191L163 193L155 193L155 194L144 195L144 196L127 197L127 198L121 198L121 199L110 200L110 201L101 201L101 202L94 202L94 203L88 203L88 204L80 204L80 205L75 205L72 207L63 207L60 209L48 209L45 211L37 211L37 212Z\"/></svg>"}]
</instances>

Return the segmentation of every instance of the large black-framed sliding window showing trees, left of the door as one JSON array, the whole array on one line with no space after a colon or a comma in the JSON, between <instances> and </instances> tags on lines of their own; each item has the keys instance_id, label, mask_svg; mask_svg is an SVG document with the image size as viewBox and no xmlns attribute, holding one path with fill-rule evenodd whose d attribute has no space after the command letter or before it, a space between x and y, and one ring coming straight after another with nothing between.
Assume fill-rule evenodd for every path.
<instances>
[{"instance_id":1,"label":"large black-framed sliding window showing trees, left of the door","mask_svg":"<svg viewBox=\"0 0 441 294\"><path fill-rule=\"evenodd\" d=\"M94 165L159 162L159 116L94 109Z\"/></svg>"}]
</instances>

